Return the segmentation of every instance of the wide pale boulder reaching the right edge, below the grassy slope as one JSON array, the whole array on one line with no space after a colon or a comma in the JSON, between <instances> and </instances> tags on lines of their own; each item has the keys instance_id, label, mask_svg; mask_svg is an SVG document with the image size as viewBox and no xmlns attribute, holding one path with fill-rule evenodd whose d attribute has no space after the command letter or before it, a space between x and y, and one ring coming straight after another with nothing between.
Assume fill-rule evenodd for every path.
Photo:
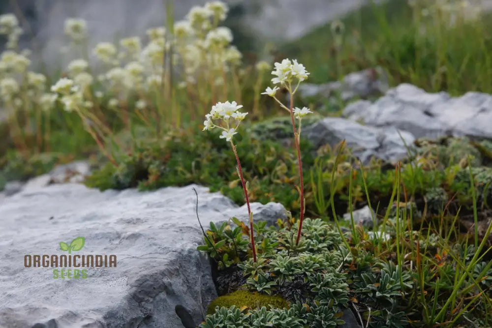
<instances>
[{"instance_id":1,"label":"wide pale boulder reaching the right edge, below the grassy slope","mask_svg":"<svg viewBox=\"0 0 492 328\"><path fill-rule=\"evenodd\" d=\"M394 126L416 138L469 136L492 139L492 95L467 92L451 97L401 84L374 103L358 102L343 116L373 126Z\"/></svg>"}]
</instances>

